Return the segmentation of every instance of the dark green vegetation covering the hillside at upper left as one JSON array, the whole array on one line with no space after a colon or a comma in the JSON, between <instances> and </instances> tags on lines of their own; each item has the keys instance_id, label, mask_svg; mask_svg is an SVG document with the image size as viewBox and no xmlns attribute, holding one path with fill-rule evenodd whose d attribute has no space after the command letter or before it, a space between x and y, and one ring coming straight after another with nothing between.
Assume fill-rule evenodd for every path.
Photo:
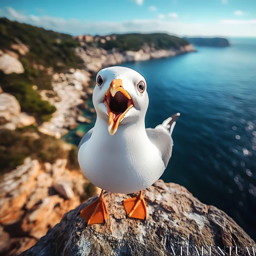
<instances>
[{"instance_id":1,"label":"dark green vegetation covering the hillside at upper left","mask_svg":"<svg viewBox=\"0 0 256 256\"><path fill-rule=\"evenodd\" d=\"M16 52L25 70L23 74L5 75L1 72L1 87L4 92L13 94L19 100L22 111L33 114L42 121L48 121L56 108L48 101L41 100L41 96L32 89L32 85L36 85L39 90L50 90L52 89L51 74L47 68L62 72L68 68L81 67L83 61L74 51L79 43L70 35L6 18L0 18L0 34L1 49ZM13 44L19 42L29 47L26 55L12 48Z\"/></svg>"}]
</instances>

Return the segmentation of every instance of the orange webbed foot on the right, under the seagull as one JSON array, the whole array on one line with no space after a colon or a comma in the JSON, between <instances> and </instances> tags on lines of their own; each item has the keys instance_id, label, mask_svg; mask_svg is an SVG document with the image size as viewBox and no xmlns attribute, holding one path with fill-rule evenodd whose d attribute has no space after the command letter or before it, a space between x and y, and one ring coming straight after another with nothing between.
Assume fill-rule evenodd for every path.
<instances>
[{"instance_id":1,"label":"orange webbed foot on the right, under the seagull","mask_svg":"<svg viewBox=\"0 0 256 256\"><path fill-rule=\"evenodd\" d=\"M140 191L140 195L124 199L123 203L128 218L146 220L147 207L142 197L142 190Z\"/></svg>"}]
</instances>

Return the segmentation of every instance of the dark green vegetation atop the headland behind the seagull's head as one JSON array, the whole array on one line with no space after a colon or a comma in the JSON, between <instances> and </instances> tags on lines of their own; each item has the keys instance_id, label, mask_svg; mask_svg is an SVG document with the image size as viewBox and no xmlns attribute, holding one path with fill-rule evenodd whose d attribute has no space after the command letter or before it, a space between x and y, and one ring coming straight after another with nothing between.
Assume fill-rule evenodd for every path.
<instances>
[{"instance_id":1,"label":"dark green vegetation atop the headland behind the seagull's head","mask_svg":"<svg viewBox=\"0 0 256 256\"><path fill-rule=\"evenodd\" d=\"M116 40L106 41L105 44L99 44L100 47L111 50L118 48L121 51L139 51L144 44L159 49L175 49L179 50L180 46L188 44L183 38L170 36L163 33L153 34L122 34L116 35Z\"/></svg>"}]
</instances>

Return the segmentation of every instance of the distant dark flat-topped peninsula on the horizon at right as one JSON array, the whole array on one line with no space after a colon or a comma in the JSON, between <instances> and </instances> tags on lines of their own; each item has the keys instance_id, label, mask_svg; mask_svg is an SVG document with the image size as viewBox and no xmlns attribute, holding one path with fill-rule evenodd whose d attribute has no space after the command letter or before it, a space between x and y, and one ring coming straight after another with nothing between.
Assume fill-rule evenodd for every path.
<instances>
[{"instance_id":1,"label":"distant dark flat-topped peninsula on the horizon at right","mask_svg":"<svg viewBox=\"0 0 256 256\"><path fill-rule=\"evenodd\" d=\"M190 44L194 44L196 46L213 46L213 47L226 47L230 46L230 43L226 38L221 37L183 37L183 39L187 40Z\"/></svg>"}]
</instances>

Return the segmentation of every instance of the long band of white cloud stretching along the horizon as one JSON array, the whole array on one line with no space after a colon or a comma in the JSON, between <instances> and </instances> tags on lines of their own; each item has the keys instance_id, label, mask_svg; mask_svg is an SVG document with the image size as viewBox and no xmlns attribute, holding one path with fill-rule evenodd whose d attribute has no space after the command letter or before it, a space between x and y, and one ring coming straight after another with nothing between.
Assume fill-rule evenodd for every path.
<instances>
[{"instance_id":1,"label":"long band of white cloud stretching along the horizon","mask_svg":"<svg viewBox=\"0 0 256 256\"><path fill-rule=\"evenodd\" d=\"M152 33L165 32L180 36L256 36L254 20L220 20L214 23L186 23L163 19L136 19L121 22L90 22L50 16L26 16L12 8L3 9L2 16L10 20L68 33L74 36L83 34L108 35L111 33ZM235 26L234 26L235 24Z\"/></svg>"}]
</instances>

